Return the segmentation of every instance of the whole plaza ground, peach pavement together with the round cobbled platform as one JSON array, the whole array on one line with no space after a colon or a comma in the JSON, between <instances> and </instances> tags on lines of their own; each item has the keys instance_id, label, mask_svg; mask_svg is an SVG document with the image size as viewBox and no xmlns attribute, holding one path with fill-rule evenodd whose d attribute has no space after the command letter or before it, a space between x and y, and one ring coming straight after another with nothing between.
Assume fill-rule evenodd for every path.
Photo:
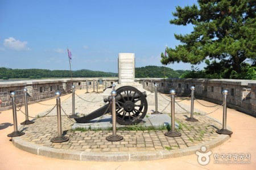
<instances>
[{"instance_id":1,"label":"whole plaza ground, peach pavement together with the round cobbled platform","mask_svg":"<svg viewBox=\"0 0 256 170\"><path fill-rule=\"evenodd\" d=\"M91 113L102 105L102 90L76 90L75 112ZM147 100L151 94L147 94ZM154 97L153 97L154 99ZM111 115L105 114L88 124L77 124L72 114L72 94L60 96L61 127L66 142L55 143L57 135L56 97L28 105L34 124L25 120L24 105L16 107L19 137L7 137L14 131L13 109L0 112L0 169L255 169L255 117L227 108L226 127L232 135L218 134L222 128L223 105L196 99L190 117L191 97L175 96L175 130L180 137L168 137L171 123L170 94L158 93L158 111L148 105L147 116L133 126L118 126L123 139L110 142ZM149 102L150 103L150 102ZM161 117L164 120L161 120ZM159 121L162 121L159 123ZM146 126L147 124L151 125ZM74 125L76 125L74 127ZM151 128L150 128L151 127ZM87 130L85 130L87 129Z\"/></svg>"}]
</instances>

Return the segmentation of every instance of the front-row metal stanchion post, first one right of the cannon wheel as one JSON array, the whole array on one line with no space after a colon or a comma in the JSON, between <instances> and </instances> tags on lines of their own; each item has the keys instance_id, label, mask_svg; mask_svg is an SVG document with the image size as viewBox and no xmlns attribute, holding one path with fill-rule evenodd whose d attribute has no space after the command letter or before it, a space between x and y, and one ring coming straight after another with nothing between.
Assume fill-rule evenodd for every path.
<instances>
[{"instance_id":1,"label":"front-row metal stanchion post, first one right of the cannon wheel","mask_svg":"<svg viewBox=\"0 0 256 170\"><path fill-rule=\"evenodd\" d=\"M176 94L175 90L170 90L170 94L171 94L171 130L164 133L164 135L166 135L167 137L180 137L181 133L175 131L175 120L174 120L174 112L175 112L175 97L174 95Z\"/></svg>"}]
</instances>

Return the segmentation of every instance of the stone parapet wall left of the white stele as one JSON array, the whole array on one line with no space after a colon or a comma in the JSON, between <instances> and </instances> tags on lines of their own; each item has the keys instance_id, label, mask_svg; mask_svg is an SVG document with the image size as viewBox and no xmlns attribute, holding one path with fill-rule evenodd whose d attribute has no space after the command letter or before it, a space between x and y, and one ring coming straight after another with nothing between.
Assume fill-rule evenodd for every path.
<instances>
[{"instance_id":1,"label":"stone parapet wall left of the white stele","mask_svg":"<svg viewBox=\"0 0 256 170\"><path fill-rule=\"evenodd\" d=\"M77 78L73 79L73 85L76 89L86 89L88 84L88 90L102 91L104 88L111 86L114 82L117 82L117 78ZM71 79L48 79L48 80L29 80L29 81L16 81L16 82L0 82L0 99L2 104L0 105L0 111L10 109L12 107L10 93L16 91L16 105L24 104L24 88L28 90L28 104L39 101L52 99L55 97L55 92L60 91L61 95L71 93Z\"/></svg>"}]
</instances>

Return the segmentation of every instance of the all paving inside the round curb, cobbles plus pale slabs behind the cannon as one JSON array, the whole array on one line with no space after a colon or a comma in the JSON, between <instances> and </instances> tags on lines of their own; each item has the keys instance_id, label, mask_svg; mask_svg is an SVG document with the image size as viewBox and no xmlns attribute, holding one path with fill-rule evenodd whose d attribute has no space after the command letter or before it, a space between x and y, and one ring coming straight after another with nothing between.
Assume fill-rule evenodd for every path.
<instances>
[{"instance_id":1,"label":"all paving inside the round curb, cobbles plus pale slabs behind the cannon","mask_svg":"<svg viewBox=\"0 0 256 170\"><path fill-rule=\"evenodd\" d=\"M149 94L154 95L154 94ZM181 100L190 100L190 98L177 98L176 102ZM54 107L54 103L52 107ZM89 93L76 95L76 113L88 114L102 107L101 94ZM208 142L216 137L215 132L222 126L212 118L207 116L195 115L198 122L188 122L185 118L190 117L187 111L190 111L188 105L175 103L175 121L179 123L180 128L177 129L181 133L181 137L166 137L164 133L168 130L118 130L117 134L123 136L123 140L119 142L106 141L106 137L112 134L111 130L97 131L72 131L73 119L69 119L65 114L72 114L72 97L61 101L61 117L62 130L65 136L69 137L69 141L63 143L52 143L51 138L57 135L57 117L56 108L50 109L51 112L44 111L40 114L40 118L35 120L35 124L23 126L25 135L21 136L24 141L32 142L38 145L64 148L85 152L117 152L117 151L162 151L175 150L178 148L186 148L199 143ZM169 114L170 96L159 94L158 111ZM155 106L148 106L148 113L154 112ZM195 112L201 112L195 110ZM202 112L201 112L202 113ZM47 114L47 117L44 115ZM171 118L170 118L171 121Z\"/></svg>"}]
</instances>

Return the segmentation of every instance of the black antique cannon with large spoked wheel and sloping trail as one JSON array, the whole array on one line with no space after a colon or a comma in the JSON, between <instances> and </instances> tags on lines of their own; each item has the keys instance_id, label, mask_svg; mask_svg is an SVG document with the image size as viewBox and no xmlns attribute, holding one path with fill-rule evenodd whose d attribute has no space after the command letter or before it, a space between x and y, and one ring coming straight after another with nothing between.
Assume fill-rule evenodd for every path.
<instances>
[{"instance_id":1,"label":"black antique cannon with large spoked wheel and sloping trail","mask_svg":"<svg viewBox=\"0 0 256 170\"><path fill-rule=\"evenodd\" d=\"M117 90L116 97L116 114L117 122L120 125L135 125L142 121L147 113L147 94L141 92L137 88L132 86L122 86ZM86 123L94 118L100 117L105 113L112 112L112 107L109 107L112 96L104 99L104 107L97 109L96 111L89 113L86 116L75 118L78 123Z\"/></svg>"}]
</instances>

